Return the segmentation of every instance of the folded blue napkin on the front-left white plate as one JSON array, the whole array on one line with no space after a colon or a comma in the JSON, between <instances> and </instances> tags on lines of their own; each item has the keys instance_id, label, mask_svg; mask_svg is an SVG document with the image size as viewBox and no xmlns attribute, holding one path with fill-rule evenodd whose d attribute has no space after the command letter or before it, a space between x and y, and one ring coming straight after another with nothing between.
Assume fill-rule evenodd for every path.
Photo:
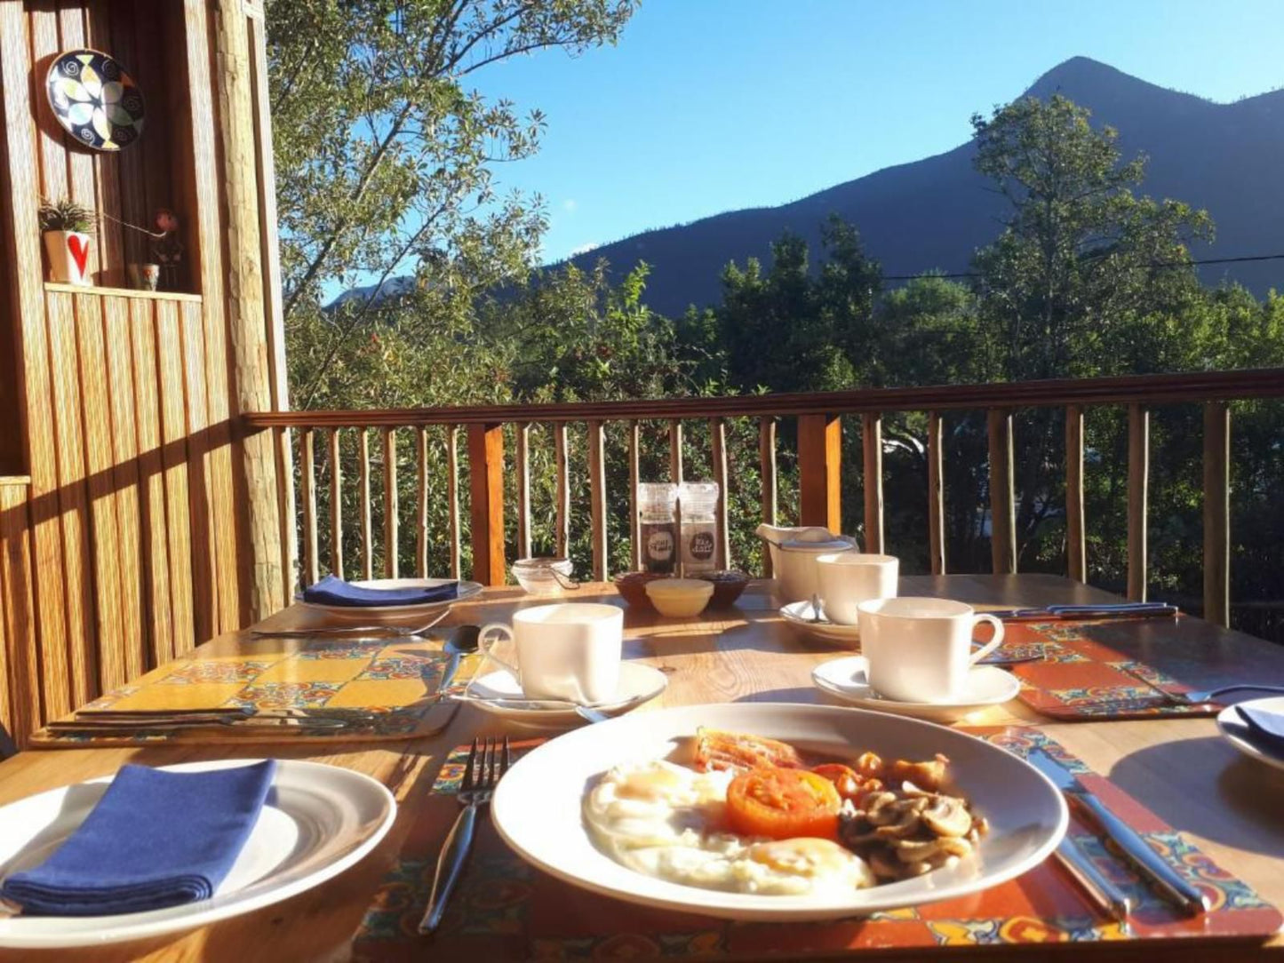
<instances>
[{"instance_id":1,"label":"folded blue napkin on the front-left white plate","mask_svg":"<svg viewBox=\"0 0 1284 963\"><path fill-rule=\"evenodd\" d=\"M209 899L249 838L276 761L167 773L125 765L85 822L0 896L24 914L96 917Z\"/></svg>"}]
</instances>

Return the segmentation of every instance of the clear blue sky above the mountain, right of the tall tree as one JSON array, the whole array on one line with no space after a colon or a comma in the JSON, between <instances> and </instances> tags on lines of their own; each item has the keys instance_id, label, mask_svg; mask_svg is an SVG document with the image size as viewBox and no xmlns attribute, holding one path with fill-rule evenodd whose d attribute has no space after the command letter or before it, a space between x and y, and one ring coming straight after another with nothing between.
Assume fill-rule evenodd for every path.
<instances>
[{"instance_id":1,"label":"clear blue sky above the mountain, right of the tall tree","mask_svg":"<svg viewBox=\"0 0 1284 963\"><path fill-rule=\"evenodd\" d=\"M615 48L475 77L538 107L546 259L948 150L1075 55L1212 100L1284 86L1284 0L646 0Z\"/></svg>"}]
</instances>

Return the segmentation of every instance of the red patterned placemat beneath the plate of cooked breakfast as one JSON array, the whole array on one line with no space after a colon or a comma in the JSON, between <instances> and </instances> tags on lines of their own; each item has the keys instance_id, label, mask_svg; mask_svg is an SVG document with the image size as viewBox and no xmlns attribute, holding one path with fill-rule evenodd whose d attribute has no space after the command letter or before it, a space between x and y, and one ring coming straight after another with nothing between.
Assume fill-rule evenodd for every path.
<instances>
[{"instance_id":1,"label":"red patterned placemat beneath the plate of cooked breakfast","mask_svg":"<svg viewBox=\"0 0 1284 963\"><path fill-rule=\"evenodd\" d=\"M1007 883L869 918L823 923L736 923L636 907L564 883L524 863L480 820L473 859L431 949L416 933L438 849L458 813L453 799L467 747L442 767L397 863L375 894L353 945L358 960L571 960L650 957L800 959L860 949L1014 945L1154 939L1262 941L1284 917L1244 882L1220 869L1153 813L1037 729L973 729L1025 755L1043 749L1136 828L1188 880L1212 912L1181 917L1106 849L1085 826L1071 833L1102 871L1136 901L1129 930L1107 919L1055 860ZM524 751L538 741L517 743Z\"/></svg>"}]
</instances>

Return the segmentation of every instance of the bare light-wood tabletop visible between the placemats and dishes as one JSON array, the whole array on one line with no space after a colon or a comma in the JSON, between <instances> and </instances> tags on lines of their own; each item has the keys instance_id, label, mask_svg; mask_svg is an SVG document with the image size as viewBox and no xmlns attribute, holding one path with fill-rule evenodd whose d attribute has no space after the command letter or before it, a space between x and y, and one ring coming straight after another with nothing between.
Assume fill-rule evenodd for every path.
<instances>
[{"instance_id":1,"label":"bare light-wood tabletop visible between the placemats and dishes","mask_svg":"<svg viewBox=\"0 0 1284 963\"><path fill-rule=\"evenodd\" d=\"M1099 589L1050 575L948 575L901 579L901 594L939 594L978 606L1032 606L1054 602L1117 601ZM615 596L610 586L586 586L578 600ZM487 589L479 601L461 603L447 624L505 618L515 605L534 605L520 589ZM623 602L618 602L623 603ZM286 610L275 620L295 620ZM1181 664L1197 665L1202 684L1226 678L1284 681L1284 651L1261 639L1219 629L1198 619L1180 623L1129 623L1138 657L1165 666L1165 651L1181 651ZM672 621L628 611L625 656L669 672L669 688L639 711L669 705L731 700L819 701L810 683L811 668L835 656L829 646L801 642L776 615L767 586L755 584L737 609L706 612L698 621ZM235 645L243 634L225 636L208 646ZM1192 655L1194 652L1195 655ZM1180 678L1180 675L1179 675ZM1284 907L1284 772L1240 756L1224 742L1212 719L1145 722L1089 722L1050 724L1017 702L969 719L973 724L1023 723L1041 725L1098 773L1149 806L1185 833L1224 868L1252 885L1265 899ZM392 864L416 819L443 754L475 733L499 733L493 716L464 706L448 729L419 741L271 747L277 758L312 759L367 773L395 795L395 826L379 849L360 865L329 883L259 912L205 927L177 939L87 951L63 951L67 960L312 960L345 959L370 895ZM261 756L262 746L171 746L158 749L74 749L27 751L0 765L0 804L33 792L114 772L122 763L164 765L195 759ZM1094 946L1112 958L1109 948ZM1072 950L1082 953L1081 949ZM959 950L968 959L990 958L976 948ZM1138 953L1136 946L1131 949ZM1235 959L1251 951L1228 950ZM18 959L19 954L0 954ZM41 954L23 953L23 959ZM51 958L46 954L44 958ZM880 958L885 958L878 954ZM922 958L915 950L907 958ZM936 955L946 955L942 949ZM957 954L949 954L957 955ZM1007 948L1000 958L1040 958L1040 951ZM1212 959L1204 949L1162 950L1163 959ZM1284 959L1284 937L1276 936L1260 954ZM422 958L434 959L425 942ZM1117 957L1113 957L1117 958ZM1228 957L1229 958L1229 957Z\"/></svg>"}]
</instances>

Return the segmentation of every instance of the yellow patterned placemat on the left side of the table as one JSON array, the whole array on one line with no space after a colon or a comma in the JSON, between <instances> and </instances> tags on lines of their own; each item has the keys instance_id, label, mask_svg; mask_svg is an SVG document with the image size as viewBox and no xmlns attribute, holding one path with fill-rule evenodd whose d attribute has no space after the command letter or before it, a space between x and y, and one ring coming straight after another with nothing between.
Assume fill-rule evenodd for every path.
<instances>
[{"instance_id":1,"label":"yellow patterned placemat on the left side of the table","mask_svg":"<svg viewBox=\"0 0 1284 963\"><path fill-rule=\"evenodd\" d=\"M343 728L290 725L209 727L139 732L130 736L69 736L41 729L30 745L39 749L130 746L152 742L294 742L419 738L440 732L458 702L438 700L446 660L442 643L424 638L291 639L239 642L223 654L198 652L153 669L137 682L113 690L86 709L254 709L354 710ZM456 675L462 683L476 668L465 657ZM453 687L452 687L453 688ZM361 710L360 713L356 710ZM71 716L69 716L71 718Z\"/></svg>"}]
</instances>

